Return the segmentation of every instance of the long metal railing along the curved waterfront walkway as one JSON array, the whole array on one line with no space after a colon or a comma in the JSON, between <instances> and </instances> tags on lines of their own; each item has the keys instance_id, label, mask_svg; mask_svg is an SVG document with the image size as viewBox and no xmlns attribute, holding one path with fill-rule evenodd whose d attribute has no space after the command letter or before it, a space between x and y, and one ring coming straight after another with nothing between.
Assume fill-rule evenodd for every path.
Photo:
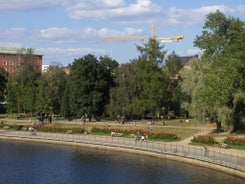
<instances>
[{"instance_id":1,"label":"long metal railing along the curved waterfront walkway","mask_svg":"<svg viewBox=\"0 0 245 184\"><path fill-rule=\"evenodd\" d=\"M191 158L245 172L245 156L227 154L214 150L205 150L200 147L182 146L174 143L136 141L133 138L97 136L90 134L61 134L10 130L0 130L0 136L76 142L143 150L158 154Z\"/></svg>"}]
</instances>

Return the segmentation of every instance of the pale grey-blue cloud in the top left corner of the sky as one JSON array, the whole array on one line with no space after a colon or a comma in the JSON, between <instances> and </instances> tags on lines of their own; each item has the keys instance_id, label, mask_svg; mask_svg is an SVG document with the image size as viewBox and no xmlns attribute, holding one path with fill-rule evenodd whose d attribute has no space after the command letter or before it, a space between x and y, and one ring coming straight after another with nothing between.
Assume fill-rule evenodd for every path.
<instances>
[{"instance_id":1,"label":"pale grey-blue cloud in the top left corner of the sky","mask_svg":"<svg viewBox=\"0 0 245 184\"><path fill-rule=\"evenodd\" d=\"M1 0L1 11L42 10L57 5L60 0Z\"/></svg>"}]
</instances>

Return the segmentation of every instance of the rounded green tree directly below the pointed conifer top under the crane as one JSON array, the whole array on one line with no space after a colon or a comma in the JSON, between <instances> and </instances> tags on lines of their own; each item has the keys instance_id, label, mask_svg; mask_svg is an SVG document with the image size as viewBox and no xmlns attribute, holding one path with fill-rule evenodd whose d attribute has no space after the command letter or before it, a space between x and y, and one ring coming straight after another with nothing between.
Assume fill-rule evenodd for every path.
<instances>
[{"instance_id":1,"label":"rounded green tree directly below the pointed conifer top under the crane","mask_svg":"<svg viewBox=\"0 0 245 184\"><path fill-rule=\"evenodd\" d=\"M155 62L143 57L136 62L135 70L131 111L140 117L150 115L154 118L160 113L164 101L162 69Z\"/></svg>"}]
</instances>

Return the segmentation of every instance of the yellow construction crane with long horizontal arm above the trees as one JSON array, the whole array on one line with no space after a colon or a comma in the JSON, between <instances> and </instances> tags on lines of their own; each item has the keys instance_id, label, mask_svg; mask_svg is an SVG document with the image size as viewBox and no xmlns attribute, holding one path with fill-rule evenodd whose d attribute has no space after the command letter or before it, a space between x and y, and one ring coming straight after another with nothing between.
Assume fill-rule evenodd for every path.
<instances>
[{"instance_id":1,"label":"yellow construction crane with long horizontal arm above the trees","mask_svg":"<svg viewBox=\"0 0 245 184\"><path fill-rule=\"evenodd\" d=\"M173 36L173 37L156 37L156 27L152 26L151 36L111 36L103 37L103 40L106 41L124 41L124 40L148 40L149 38L154 38L159 41L179 41L184 38L183 35Z\"/></svg>"}]
</instances>

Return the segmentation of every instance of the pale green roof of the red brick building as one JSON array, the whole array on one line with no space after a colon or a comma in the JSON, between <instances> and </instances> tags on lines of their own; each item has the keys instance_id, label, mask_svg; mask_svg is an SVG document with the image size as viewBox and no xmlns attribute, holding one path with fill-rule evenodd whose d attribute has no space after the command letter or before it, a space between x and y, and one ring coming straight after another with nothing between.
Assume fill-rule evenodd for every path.
<instances>
[{"instance_id":1,"label":"pale green roof of the red brick building","mask_svg":"<svg viewBox=\"0 0 245 184\"><path fill-rule=\"evenodd\" d=\"M0 54L25 55L30 50L34 56L43 56L42 53L40 53L40 52L38 52L32 48L5 48L5 47L0 47Z\"/></svg>"}]
</instances>

